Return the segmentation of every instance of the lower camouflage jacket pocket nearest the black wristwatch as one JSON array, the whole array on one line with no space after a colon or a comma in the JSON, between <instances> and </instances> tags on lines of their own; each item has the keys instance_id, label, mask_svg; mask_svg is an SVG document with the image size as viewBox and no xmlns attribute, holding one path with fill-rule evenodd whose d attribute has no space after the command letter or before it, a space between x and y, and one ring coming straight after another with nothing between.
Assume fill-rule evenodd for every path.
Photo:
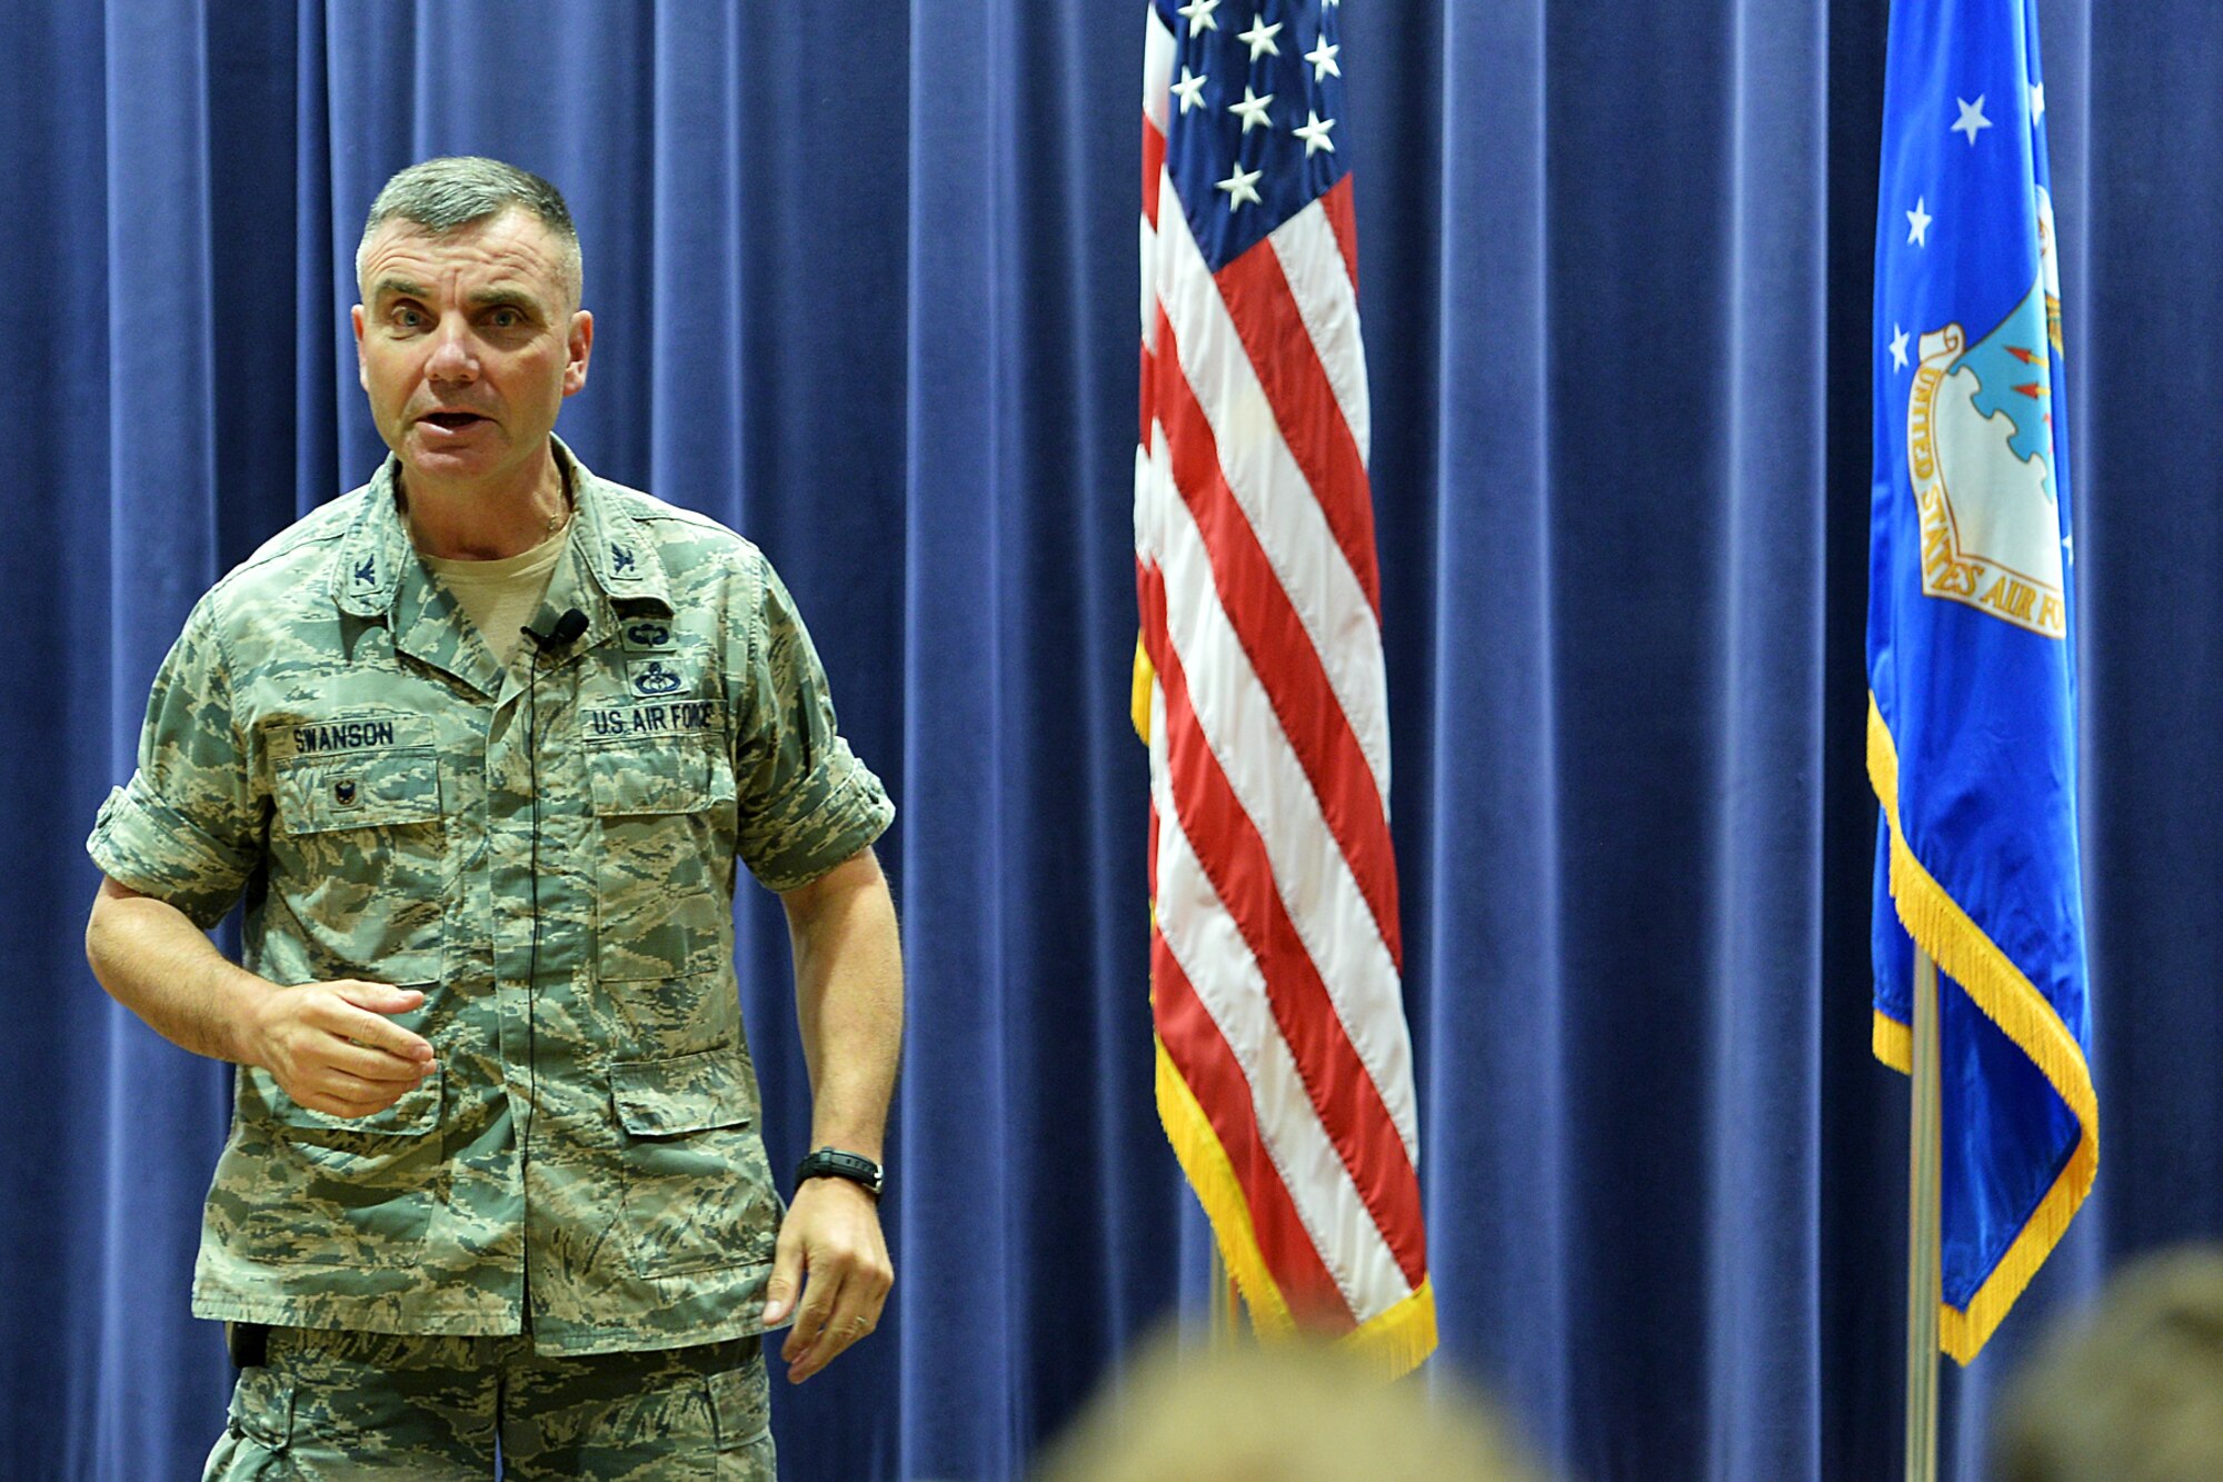
<instances>
[{"instance_id":1,"label":"lower camouflage jacket pocket nearest the black wristwatch","mask_svg":"<svg viewBox=\"0 0 2223 1482\"><path fill-rule=\"evenodd\" d=\"M609 1093L625 1128L620 1217L645 1277L760 1266L778 1199L756 1135L756 1077L738 1050L620 1061Z\"/></svg>"}]
</instances>

